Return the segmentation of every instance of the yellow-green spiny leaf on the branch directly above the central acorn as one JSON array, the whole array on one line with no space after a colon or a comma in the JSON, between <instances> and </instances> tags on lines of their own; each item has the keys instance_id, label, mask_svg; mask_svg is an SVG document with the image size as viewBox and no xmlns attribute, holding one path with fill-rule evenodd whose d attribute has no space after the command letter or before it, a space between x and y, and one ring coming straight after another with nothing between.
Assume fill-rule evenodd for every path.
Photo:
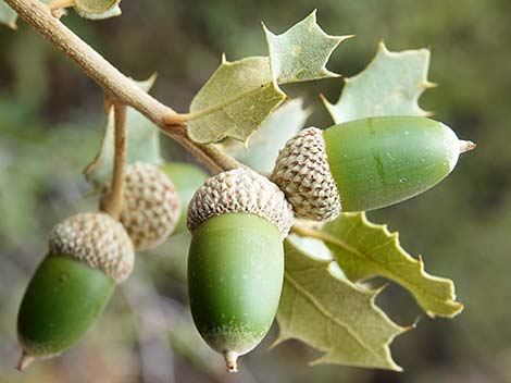
<instances>
[{"instance_id":1,"label":"yellow-green spiny leaf on the branch directly above the central acorn","mask_svg":"<svg viewBox=\"0 0 511 383\"><path fill-rule=\"evenodd\" d=\"M196 143L247 141L286 98L272 83L267 58L222 61L190 104L188 135Z\"/></svg>"}]
</instances>

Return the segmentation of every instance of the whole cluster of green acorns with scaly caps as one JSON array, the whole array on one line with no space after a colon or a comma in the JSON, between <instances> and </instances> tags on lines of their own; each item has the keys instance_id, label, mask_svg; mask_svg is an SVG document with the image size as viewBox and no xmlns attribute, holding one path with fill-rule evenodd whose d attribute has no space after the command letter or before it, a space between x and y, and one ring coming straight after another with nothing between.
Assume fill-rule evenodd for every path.
<instances>
[{"instance_id":1,"label":"whole cluster of green acorns with scaly caps","mask_svg":"<svg viewBox=\"0 0 511 383\"><path fill-rule=\"evenodd\" d=\"M275 318L283 239L295 218L331 221L340 211L399 202L440 182L473 147L425 118L370 118L301 131L281 150L272 181L246 168L207 180L188 206L188 294L199 333L227 370L236 371L237 357L261 342ZM129 275L134 247L157 246L178 221L176 189L155 166L128 166L124 197L122 224L80 213L53 228L20 310L20 368L82 336L114 283Z\"/></svg>"}]
</instances>

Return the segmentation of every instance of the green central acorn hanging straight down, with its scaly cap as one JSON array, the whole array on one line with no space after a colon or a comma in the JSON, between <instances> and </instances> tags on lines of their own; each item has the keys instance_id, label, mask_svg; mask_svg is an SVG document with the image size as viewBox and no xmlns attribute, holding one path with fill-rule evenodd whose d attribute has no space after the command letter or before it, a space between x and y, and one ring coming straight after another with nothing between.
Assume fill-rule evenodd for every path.
<instances>
[{"instance_id":1,"label":"green central acorn hanging straight down, with its scaly cap","mask_svg":"<svg viewBox=\"0 0 511 383\"><path fill-rule=\"evenodd\" d=\"M284 279L283 239L292 221L279 188L242 168L209 178L190 201L191 314L229 372L237 370L238 356L262 341L275 318Z\"/></svg>"}]
</instances>

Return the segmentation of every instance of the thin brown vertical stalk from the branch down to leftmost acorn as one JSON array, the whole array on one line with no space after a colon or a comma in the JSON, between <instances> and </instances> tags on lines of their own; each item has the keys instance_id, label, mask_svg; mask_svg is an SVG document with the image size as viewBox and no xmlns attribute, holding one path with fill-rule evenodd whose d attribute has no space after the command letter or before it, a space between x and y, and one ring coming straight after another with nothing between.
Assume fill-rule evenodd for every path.
<instances>
[{"instance_id":1,"label":"thin brown vertical stalk from the branch down to leftmost acorn","mask_svg":"<svg viewBox=\"0 0 511 383\"><path fill-rule=\"evenodd\" d=\"M109 101L107 101L109 103ZM114 113L114 147L112 185L101 203L101 210L119 220L123 211L124 173L126 169L126 106L113 101Z\"/></svg>"}]
</instances>

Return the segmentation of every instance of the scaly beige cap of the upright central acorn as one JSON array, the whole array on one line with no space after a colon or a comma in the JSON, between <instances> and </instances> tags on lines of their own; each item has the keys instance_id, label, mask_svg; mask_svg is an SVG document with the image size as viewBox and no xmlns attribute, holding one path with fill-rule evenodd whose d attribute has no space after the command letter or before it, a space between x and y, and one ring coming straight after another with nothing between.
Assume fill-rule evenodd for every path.
<instances>
[{"instance_id":1,"label":"scaly beige cap of the upright central acorn","mask_svg":"<svg viewBox=\"0 0 511 383\"><path fill-rule=\"evenodd\" d=\"M294 222L292 208L284 193L266 177L252 170L238 168L208 178L188 206L190 232L211 217L248 213L266 219L283 238Z\"/></svg>"}]
</instances>

